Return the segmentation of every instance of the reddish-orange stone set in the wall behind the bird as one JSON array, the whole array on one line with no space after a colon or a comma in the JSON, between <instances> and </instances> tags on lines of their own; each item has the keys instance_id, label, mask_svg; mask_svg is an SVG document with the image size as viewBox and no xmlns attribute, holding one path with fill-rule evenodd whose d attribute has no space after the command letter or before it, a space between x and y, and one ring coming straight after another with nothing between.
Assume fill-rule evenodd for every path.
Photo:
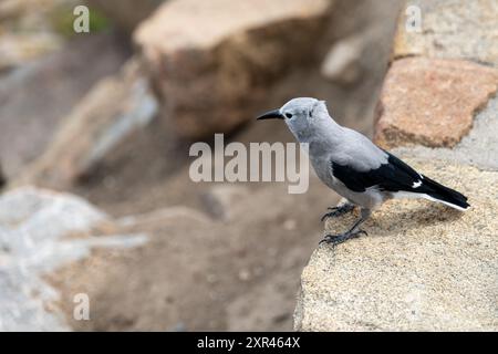
<instances>
[{"instance_id":1,"label":"reddish-orange stone set in the wall behind the bird","mask_svg":"<svg viewBox=\"0 0 498 354\"><path fill-rule=\"evenodd\" d=\"M461 60L395 61L378 102L375 142L452 147L498 90L498 71Z\"/></svg>"}]
</instances>

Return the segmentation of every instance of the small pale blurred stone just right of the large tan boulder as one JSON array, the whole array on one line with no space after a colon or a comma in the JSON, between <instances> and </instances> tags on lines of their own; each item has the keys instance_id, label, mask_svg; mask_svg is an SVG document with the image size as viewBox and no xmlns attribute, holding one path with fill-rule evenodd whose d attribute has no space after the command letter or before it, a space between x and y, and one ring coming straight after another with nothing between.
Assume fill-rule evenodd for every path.
<instances>
[{"instance_id":1,"label":"small pale blurred stone just right of the large tan boulder","mask_svg":"<svg viewBox=\"0 0 498 354\"><path fill-rule=\"evenodd\" d=\"M322 75L340 84L356 82L362 72L360 59L364 49L364 37L357 34L334 43L322 63Z\"/></svg>"}]
</instances>

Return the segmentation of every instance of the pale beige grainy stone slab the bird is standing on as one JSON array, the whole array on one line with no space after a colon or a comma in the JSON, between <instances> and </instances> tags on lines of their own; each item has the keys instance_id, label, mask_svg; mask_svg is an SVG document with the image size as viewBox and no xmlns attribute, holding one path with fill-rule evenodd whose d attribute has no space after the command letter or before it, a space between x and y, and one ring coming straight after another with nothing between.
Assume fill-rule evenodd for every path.
<instances>
[{"instance_id":1,"label":"pale beige grainy stone slab the bird is standing on","mask_svg":"<svg viewBox=\"0 0 498 354\"><path fill-rule=\"evenodd\" d=\"M408 163L466 194L471 208L392 200L365 222L369 236L319 247L302 273L295 330L498 330L498 173ZM326 230L352 221L334 219Z\"/></svg>"}]
</instances>

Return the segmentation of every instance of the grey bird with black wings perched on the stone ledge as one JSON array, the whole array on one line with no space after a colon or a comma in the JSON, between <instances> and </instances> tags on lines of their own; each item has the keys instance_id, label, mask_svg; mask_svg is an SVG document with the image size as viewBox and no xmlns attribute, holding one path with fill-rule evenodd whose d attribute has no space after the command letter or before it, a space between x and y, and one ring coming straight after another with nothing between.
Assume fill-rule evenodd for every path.
<instances>
[{"instance_id":1,"label":"grey bird with black wings perched on the stone ledge","mask_svg":"<svg viewBox=\"0 0 498 354\"><path fill-rule=\"evenodd\" d=\"M393 198L425 198L460 211L470 207L463 194L416 171L363 134L338 124L324 101L293 98L257 119L284 121L295 139L308 145L310 163L321 181L346 199L344 204L329 208L330 212L322 221L360 207L361 217L347 231L325 235L320 243L336 246L366 236L360 226L373 210Z\"/></svg>"}]
</instances>

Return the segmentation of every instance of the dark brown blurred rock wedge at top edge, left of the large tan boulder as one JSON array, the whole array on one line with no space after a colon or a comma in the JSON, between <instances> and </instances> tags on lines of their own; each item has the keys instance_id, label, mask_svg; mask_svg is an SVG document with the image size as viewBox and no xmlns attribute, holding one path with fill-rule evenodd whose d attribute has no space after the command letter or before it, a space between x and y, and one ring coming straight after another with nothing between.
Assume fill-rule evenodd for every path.
<instances>
[{"instance_id":1,"label":"dark brown blurred rock wedge at top edge, left of the large tan boulder","mask_svg":"<svg viewBox=\"0 0 498 354\"><path fill-rule=\"evenodd\" d=\"M85 0L101 10L124 32L132 33L135 27L167 0Z\"/></svg>"}]
</instances>

